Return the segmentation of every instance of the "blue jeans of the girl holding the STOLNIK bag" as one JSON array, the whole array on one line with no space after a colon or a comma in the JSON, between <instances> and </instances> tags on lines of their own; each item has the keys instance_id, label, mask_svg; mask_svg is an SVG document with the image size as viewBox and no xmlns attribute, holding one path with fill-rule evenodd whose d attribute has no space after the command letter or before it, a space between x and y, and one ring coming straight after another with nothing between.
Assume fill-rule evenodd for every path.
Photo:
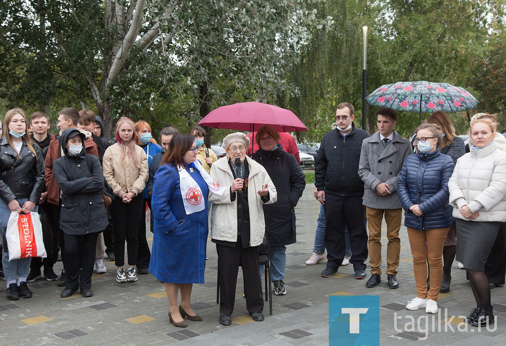
<instances>
[{"instance_id":1,"label":"blue jeans of the girl holding the STOLNIK bag","mask_svg":"<svg viewBox=\"0 0 506 346\"><path fill-rule=\"evenodd\" d=\"M28 198L16 198L19 205L22 207ZM38 210L38 205L35 205L33 211ZM17 277L26 278L30 272L31 258L20 258L19 260L9 261L9 250L7 249L7 241L5 240L5 233L7 231L7 223L11 216L11 210L7 204L0 199L0 231L2 233L3 250L2 250L2 265L4 266L4 275L6 281L16 280Z\"/></svg>"}]
</instances>

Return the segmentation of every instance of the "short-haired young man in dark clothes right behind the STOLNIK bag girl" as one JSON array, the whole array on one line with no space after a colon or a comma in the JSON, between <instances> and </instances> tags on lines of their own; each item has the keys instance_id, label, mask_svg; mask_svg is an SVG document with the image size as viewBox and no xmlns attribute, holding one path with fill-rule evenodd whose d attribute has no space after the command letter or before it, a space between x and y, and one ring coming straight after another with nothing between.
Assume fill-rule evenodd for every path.
<instances>
[{"instance_id":1,"label":"short-haired young man in dark clothes right behind the STOLNIK bag girl","mask_svg":"<svg viewBox=\"0 0 506 346\"><path fill-rule=\"evenodd\" d=\"M30 139L33 144L36 144L40 150L42 151L42 156L46 159L46 155L48 154L49 144L51 143L51 136L49 136L48 131L51 126L49 122L49 116L44 112L35 112L30 117L30 125L33 129L33 135L30 135ZM43 192L40 195L38 212L40 214L41 219L47 220L50 214L53 212L53 208L49 203L47 203L48 199L48 191L46 189L46 185L43 184ZM49 229L44 229L49 228ZM52 237L50 238L52 246L46 246L46 250L48 252L48 256L46 258L33 257L30 263L30 273L28 274L27 282L33 282L37 279L42 278L42 273L40 268L44 266L44 277L48 281L58 280L58 275L55 274L53 267L58 260L58 233L56 229L53 229L51 223L43 222L43 231L46 234L51 233ZM46 238L45 238L46 239ZM45 244L46 244L45 240Z\"/></svg>"}]
</instances>

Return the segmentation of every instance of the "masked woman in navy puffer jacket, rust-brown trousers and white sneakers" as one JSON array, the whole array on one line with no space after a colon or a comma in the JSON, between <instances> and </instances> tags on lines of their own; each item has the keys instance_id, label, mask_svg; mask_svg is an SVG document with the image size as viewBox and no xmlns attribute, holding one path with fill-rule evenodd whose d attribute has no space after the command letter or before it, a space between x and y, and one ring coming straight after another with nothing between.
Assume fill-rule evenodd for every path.
<instances>
[{"instance_id":1,"label":"masked woman in navy puffer jacket, rust-brown trousers and white sneakers","mask_svg":"<svg viewBox=\"0 0 506 346\"><path fill-rule=\"evenodd\" d=\"M443 277L443 246L453 219L448 204L448 180L453 172L453 160L441 154L442 136L439 126L422 124L416 129L416 154L409 155L402 166L397 192L404 208L404 225L413 255L416 298L408 310L426 308L426 313L438 312L437 299ZM430 288L427 292L427 262Z\"/></svg>"}]
</instances>

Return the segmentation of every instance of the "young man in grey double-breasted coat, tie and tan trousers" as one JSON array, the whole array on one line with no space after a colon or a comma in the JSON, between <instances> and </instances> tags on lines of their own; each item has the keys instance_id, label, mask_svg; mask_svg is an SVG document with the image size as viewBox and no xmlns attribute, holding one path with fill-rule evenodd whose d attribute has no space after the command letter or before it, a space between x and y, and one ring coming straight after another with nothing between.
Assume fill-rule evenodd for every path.
<instances>
[{"instance_id":1,"label":"young man in grey double-breasted coat, tie and tan trousers","mask_svg":"<svg viewBox=\"0 0 506 346\"><path fill-rule=\"evenodd\" d=\"M409 141L395 130L397 113L381 108L376 113L378 131L362 142L358 174L365 184L363 204L366 206L369 230L369 264L371 277L366 287L381 282L381 225L383 215L387 223L387 278L388 287L397 288L397 267L401 241L402 206L397 196L397 176L405 158L411 154Z\"/></svg>"}]
</instances>

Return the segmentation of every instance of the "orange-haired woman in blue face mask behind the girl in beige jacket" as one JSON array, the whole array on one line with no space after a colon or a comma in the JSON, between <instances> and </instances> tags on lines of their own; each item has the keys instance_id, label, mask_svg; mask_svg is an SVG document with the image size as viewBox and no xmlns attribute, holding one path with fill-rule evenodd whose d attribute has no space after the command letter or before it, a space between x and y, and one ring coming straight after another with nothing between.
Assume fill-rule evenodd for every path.
<instances>
[{"instance_id":1,"label":"orange-haired woman in blue face mask behind the girl in beige jacket","mask_svg":"<svg viewBox=\"0 0 506 346\"><path fill-rule=\"evenodd\" d=\"M139 120L135 123L136 143L146 153L148 157L148 167L153 160L153 156L161 152L161 147L156 143L155 139L151 137L151 126L145 120ZM149 252L148 241L146 240L146 204L151 212L151 196L148 189L142 192L144 204L142 208L141 220L139 223L139 249L137 251L137 273L148 274L149 259L151 254ZM150 228L153 233L153 213L151 212Z\"/></svg>"}]
</instances>

